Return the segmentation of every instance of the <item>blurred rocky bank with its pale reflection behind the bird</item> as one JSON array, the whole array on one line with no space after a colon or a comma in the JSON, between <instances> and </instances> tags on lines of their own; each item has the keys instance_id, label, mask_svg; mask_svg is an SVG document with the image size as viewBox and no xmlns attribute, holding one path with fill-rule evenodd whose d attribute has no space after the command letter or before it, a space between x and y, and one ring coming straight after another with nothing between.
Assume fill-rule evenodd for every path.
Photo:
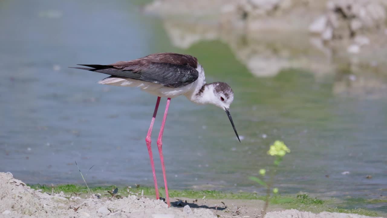
<instances>
[{"instance_id":1,"label":"blurred rocky bank with its pale reflection behind the bird","mask_svg":"<svg viewBox=\"0 0 387 218\"><path fill-rule=\"evenodd\" d=\"M387 90L386 10L385 0L155 0L144 7L163 19L176 47L221 40L255 76L307 68L317 78L335 73L334 92L368 96Z\"/></svg>"}]
</instances>

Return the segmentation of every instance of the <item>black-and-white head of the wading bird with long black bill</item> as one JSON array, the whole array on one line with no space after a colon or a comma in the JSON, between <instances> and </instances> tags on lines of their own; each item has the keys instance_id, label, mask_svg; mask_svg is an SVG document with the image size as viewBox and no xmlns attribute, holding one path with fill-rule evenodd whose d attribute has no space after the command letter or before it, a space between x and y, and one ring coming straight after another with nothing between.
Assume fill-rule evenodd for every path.
<instances>
[{"instance_id":1,"label":"black-and-white head of the wading bird with long black bill","mask_svg":"<svg viewBox=\"0 0 387 218\"><path fill-rule=\"evenodd\" d=\"M233 103L233 100L234 100L234 92L231 89L231 87L227 83L222 83L222 82L205 84L199 90L199 92L197 93L197 96L198 96L196 100L197 103L213 104L217 107L220 107L224 111L226 111L226 114L235 131L235 135L240 141L238 133L236 132L236 129L235 129L233 119L231 118L231 114L229 111L230 105L231 103Z\"/></svg>"}]
</instances>

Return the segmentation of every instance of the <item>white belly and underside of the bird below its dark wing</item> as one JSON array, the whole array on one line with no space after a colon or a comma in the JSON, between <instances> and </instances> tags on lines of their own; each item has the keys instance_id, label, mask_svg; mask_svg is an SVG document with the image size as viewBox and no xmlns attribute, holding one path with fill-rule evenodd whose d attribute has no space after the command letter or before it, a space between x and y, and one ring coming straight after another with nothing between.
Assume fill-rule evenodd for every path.
<instances>
[{"instance_id":1,"label":"white belly and underside of the bird below its dark wing","mask_svg":"<svg viewBox=\"0 0 387 218\"><path fill-rule=\"evenodd\" d=\"M122 86L122 87L137 87L137 88L140 88L142 91L148 92L152 95L156 95L159 97L166 97L166 98L174 98L189 92L193 87L195 87L195 83L197 83L197 81L195 81L194 83L190 83L184 87L178 87L178 88L164 87L163 85L160 85L157 83L149 83L149 82L144 82L140 80L118 78L118 77L113 77L113 78L108 77L98 81L98 83L105 84L105 85Z\"/></svg>"}]
</instances>

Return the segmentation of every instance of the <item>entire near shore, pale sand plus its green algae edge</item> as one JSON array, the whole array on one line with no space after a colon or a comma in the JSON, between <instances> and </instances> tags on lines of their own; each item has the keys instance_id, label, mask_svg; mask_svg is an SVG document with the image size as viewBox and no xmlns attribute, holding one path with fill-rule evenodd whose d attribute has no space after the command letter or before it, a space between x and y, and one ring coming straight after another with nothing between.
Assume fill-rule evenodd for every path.
<instances>
[{"instance_id":1,"label":"entire near shore, pale sand plus its green algae edge","mask_svg":"<svg viewBox=\"0 0 387 218\"><path fill-rule=\"evenodd\" d=\"M264 204L264 197L257 193L170 190L173 206L168 208L152 199L150 187L92 187L90 194L80 185L27 185L11 173L0 173L0 190L3 217L262 217ZM340 208L334 199L306 194L277 196L270 202L265 216L269 218L381 216L366 209Z\"/></svg>"}]
</instances>

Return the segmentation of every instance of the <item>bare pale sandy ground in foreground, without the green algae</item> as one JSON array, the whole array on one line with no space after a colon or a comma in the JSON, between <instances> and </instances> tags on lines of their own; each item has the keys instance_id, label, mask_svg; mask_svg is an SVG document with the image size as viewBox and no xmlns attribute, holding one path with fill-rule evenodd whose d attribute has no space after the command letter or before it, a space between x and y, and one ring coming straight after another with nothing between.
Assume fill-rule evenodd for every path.
<instances>
[{"instance_id":1,"label":"bare pale sandy ground in foreground, without the green algae","mask_svg":"<svg viewBox=\"0 0 387 218\"><path fill-rule=\"evenodd\" d=\"M151 200L137 196L123 199L97 199L72 196L65 198L63 193L48 194L31 189L11 173L0 173L0 217L55 217L55 218L86 218L86 217L115 217L115 218L217 218L210 209L192 209L185 206L182 210L168 208L163 201ZM78 208L75 211L73 208ZM255 209L257 210L257 209ZM220 215L220 217L261 217L261 215ZM368 218L347 213L323 212L314 214L298 210L272 211L267 218Z\"/></svg>"}]
</instances>

